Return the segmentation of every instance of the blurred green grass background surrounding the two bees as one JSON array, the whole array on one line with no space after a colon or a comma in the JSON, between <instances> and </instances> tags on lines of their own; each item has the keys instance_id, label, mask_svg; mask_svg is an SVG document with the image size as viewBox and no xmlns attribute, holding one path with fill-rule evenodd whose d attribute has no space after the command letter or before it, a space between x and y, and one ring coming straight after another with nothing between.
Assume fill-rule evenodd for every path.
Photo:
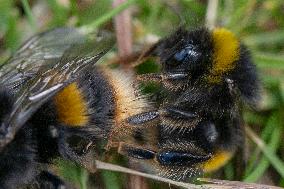
<instances>
[{"instance_id":1,"label":"blurred green grass background surrounding the two bees","mask_svg":"<svg viewBox=\"0 0 284 189\"><path fill-rule=\"evenodd\" d=\"M203 26L206 14L205 1L175 0L150 1L128 0L112 8L111 0L78 4L70 0L63 5L58 0L47 0L49 11L46 23L39 25L33 8L37 1L0 0L0 63L15 52L24 39L32 34L59 26L76 26L87 31L98 28L113 30L112 18L132 6L133 21L142 29L142 35L165 36L181 24L187 28ZM20 8L19 8L20 7ZM249 138L250 148L243 180L256 182L264 175L276 175L275 185L284 186L284 2L282 0L220 0L217 25L224 26L243 39L252 50L252 57L259 69L266 98L257 110L245 109L244 120L266 144L259 148ZM136 43L136 41L135 41ZM143 70L156 69L146 64ZM230 162L224 169L226 179L235 178L235 164ZM75 182L80 188L87 187L88 174L71 164L61 164L61 175ZM106 188L122 188L117 173L103 172L101 182ZM121 177L122 178L122 177ZM124 178L124 177L123 177ZM152 185L151 185L152 186ZM157 186L155 188L162 188ZM154 187L153 187L154 188Z\"/></svg>"}]
</instances>

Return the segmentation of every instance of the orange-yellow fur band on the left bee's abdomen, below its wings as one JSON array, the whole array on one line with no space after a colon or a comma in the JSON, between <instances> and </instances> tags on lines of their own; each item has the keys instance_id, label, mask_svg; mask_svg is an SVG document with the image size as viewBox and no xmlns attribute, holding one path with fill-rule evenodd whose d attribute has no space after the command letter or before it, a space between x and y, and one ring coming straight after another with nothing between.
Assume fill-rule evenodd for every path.
<instances>
[{"instance_id":1,"label":"orange-yellow fur band on the left bee's abdomen, below its wings","mask_svg":"<svg viewBox=\"0 0 284 189\"><path fill-rule=\"evenodd\" d=\"M88 123L87 103L76 83L71 83L54 98L58 120L67 126L84 126Z\"/></svg>"}]
</instances>

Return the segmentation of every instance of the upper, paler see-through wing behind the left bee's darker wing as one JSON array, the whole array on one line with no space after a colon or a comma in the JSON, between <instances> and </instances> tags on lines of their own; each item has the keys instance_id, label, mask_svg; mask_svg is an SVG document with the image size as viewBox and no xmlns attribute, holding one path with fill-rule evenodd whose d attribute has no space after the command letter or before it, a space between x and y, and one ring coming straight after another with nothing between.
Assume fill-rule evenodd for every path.
<instances>
[{"instance_id":1,"label":"upper, paler see-through wing behind the left bee's darker wing","mask_svg":"<svg viewBox=\"0 0 284 189\"><path fill-rule=\"evenodd\" d=\"M0 85L17 92L41 66L58 62L71 46L90 42L89 36L80 29L57 28L31 37L14 56L1 65Z\"/></svg>"}]
</instances>

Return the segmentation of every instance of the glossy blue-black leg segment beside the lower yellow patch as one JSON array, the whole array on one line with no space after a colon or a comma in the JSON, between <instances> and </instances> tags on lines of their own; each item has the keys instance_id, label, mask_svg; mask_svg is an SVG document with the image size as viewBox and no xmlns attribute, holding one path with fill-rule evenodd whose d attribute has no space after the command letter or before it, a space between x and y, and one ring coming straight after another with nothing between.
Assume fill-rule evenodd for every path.
<instances>
[{"instance_id":1,"label":"glossy blue-black leg segment beside the lower yellow patch","mask_svg":"<svg viewBox=\"0 0 284 189\"><path fill-rule=\"evenodd\" d=\"M193 165L210 159L211 155L195 155L186 152L162 152L157 160L162 165Z\"/></svg>"}]
</instances>

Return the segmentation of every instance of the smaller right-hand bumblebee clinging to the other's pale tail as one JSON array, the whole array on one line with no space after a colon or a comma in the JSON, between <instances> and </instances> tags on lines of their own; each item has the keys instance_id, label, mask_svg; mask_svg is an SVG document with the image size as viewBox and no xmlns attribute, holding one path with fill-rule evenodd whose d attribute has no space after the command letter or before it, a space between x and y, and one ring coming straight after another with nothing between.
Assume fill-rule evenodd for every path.
<instances>
[{"instance_id":1,"label":"smaller right-hand bumblebee clinging to the other's pale tail","mask_svg":"<svg viewBox=\"0 0 284 189\"><path fill-rule=\"evenodd\" d=\"M243 143L241 105L259 98L250 53L227 29L201 28L161 39L142 58L151 56L158 57L161 73L138 79L161 83L157 96L165 97L157 110L127 119L124 124L140 134L133 134L136 145L120 152L175 180L219 169ZM153 132L154 141L141 137Z\"/></svg>"}]
</instances>

